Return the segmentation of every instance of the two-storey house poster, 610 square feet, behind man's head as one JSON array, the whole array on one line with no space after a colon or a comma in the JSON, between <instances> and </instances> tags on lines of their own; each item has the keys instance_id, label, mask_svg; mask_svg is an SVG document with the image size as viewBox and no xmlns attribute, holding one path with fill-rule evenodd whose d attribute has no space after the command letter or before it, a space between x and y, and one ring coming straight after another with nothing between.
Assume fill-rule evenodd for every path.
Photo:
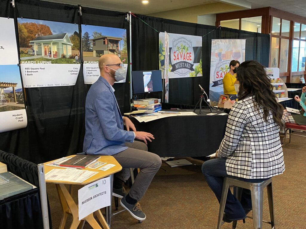
<instances>
[{"instance_id":1,"label":"two-storey house poster, 610 square feet, behind man's head","mask_svg":"<svg viewBox=\"0 0 306 229\"><path fill-rule=\"evenodd\" d=\"M128 70L126 30L82 24L83 75L85 84L93 84L100 76L99 58L115 54ZM114 68L115 66L109 66ZM126 76L125 76L126 77ZM126 79L116 83L124 83Z\"/></svg>"}]
</instances>

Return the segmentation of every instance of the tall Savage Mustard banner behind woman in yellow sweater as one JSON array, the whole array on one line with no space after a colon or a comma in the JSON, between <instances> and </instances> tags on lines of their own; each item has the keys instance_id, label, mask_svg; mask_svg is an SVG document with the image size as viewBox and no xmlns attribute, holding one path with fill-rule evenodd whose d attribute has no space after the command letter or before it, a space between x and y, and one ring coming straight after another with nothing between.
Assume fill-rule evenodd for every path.
<instances>
[{"instance_id":1,"label":"tall Savage Mustard banner behind woman in yellow sweater","mask_svg":"<svg viewBox=\"0 0 306 229\"><path fill-rule=\"evenodd\" d=\"M209 99L216 106L223 94L223 77L230 71L230 61L244 61L245 39L218 39L211 41L211 71Z\"/></svg>"}]
</instances>

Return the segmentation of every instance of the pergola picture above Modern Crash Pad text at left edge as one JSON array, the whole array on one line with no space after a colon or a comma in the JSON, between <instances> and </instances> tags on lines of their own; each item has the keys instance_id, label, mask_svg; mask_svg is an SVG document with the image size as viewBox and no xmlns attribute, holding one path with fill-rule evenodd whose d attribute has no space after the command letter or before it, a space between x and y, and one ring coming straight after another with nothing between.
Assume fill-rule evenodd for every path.
<instances>
[{"instance_id":1,"label":"pergola picture above Modern Crash Pad text at left edge","mask_svg":"<svg viewBox=\"0 0 306 229\"><path fill-rule=\"evenodd\" d=\"M24 109L19 67L0 65L0 112Z\"/></svg>"}]
</instances>

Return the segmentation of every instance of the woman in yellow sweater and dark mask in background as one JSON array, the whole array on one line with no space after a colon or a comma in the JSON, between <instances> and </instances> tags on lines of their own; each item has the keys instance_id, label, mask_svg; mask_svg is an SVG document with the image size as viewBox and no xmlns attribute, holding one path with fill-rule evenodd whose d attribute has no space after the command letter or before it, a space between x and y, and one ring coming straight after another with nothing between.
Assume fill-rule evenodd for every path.
<instances>
[{"instance_id":1,"label":"woman in yellow sweater and dark mask in background","mask_svg":"<svg viewBox=\"0 0 306 229\"><path fill-rule=\"evenodd\" d=\"M236 69L239 67L240 62L238 60L232 60L230 62L230 71L225 74L223 78L223 91L225 95L228 95L231 100L237 98L237 92L235 91L234 82L236 79Z\"/></svg>"}]
</instances>

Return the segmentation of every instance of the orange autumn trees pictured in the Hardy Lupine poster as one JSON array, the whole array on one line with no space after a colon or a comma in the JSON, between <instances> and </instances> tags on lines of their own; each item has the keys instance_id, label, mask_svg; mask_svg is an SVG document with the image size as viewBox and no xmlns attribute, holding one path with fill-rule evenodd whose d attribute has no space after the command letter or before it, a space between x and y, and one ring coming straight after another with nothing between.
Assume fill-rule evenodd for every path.
<instances>
[{"instance_id":1,"label":"orange autumn trees pictured in the Hardy Lupine poster","mask_svg":"<svg viewBox=\"0 0 306 229\"><path fill-rule=\"evenodd\" d=\"M37 37L52 35L49 26L34 22L18 23L20 47L31 47L30 41Z\"/></svg>"}]
</instances>

